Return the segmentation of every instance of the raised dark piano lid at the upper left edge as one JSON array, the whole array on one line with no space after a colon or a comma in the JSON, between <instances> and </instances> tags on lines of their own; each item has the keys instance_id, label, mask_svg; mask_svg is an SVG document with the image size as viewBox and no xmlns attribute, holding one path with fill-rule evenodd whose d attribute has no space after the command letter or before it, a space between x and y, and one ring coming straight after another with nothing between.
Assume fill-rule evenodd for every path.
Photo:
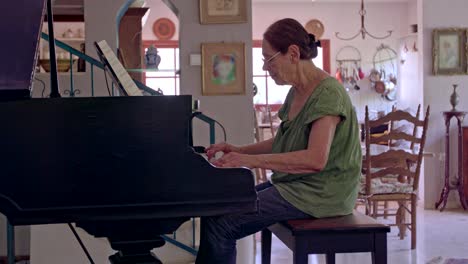
<instances>
[{"instance_id":1,"label":"raised dark piano lid at the upper left edge","mask_svg":"<svg viewBox=\"0 0 468 264\"><path fill-rule=\"evenodd\" d=\"M45 1L2 1L1 5L0 101L4 101L13 94L29 96Z\"/></svg>"}]
</instances>

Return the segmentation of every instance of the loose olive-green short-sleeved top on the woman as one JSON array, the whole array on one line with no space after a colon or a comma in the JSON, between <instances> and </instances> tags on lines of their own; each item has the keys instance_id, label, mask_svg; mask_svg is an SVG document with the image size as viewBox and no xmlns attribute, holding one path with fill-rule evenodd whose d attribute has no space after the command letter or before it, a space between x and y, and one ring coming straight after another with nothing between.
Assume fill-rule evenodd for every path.
<instances>
[{"instance_id":1,"label":"loose olive-green short-sleeved top on the woman","mask_svg":"<svg viewBox=\"0 0 468 264\"><path fill-rule=\"evenodd\" d=\"M339 116L328 161L318 173L289 174L274 171L271 182L281 196L299 210L317 218L352 213L361 175L359 124L351 100L343 86L329 77L320 82L299 114L292 120L288 112L291 88L279 111L281 125L273 142L273 153L307 149L311 124L324 116Z\"/></svg>"}]
</instances>

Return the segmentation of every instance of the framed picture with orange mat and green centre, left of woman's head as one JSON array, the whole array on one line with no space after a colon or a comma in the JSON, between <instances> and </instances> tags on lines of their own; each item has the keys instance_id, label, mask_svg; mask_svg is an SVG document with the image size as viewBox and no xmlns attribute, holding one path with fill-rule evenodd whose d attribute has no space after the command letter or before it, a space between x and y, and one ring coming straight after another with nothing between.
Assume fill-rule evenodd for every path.
<instances>
[{"instance_id":1,"label":"framed picture with orange mat and green centre, left of woman's head","mask_svg":"<svg viewBox=\"0 0 468 264\"><path fill-rule=\"evenodd\" d=\"M245 44L202 43L202 94L245 93Z\"/></svg>"}]
</instances>

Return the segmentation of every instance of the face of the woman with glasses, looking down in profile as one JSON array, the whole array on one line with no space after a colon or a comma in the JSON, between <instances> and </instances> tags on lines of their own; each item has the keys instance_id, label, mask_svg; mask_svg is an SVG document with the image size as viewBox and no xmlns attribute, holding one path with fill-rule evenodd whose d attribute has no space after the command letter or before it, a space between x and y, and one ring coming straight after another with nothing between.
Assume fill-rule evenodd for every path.
<instances>
[{"instance_id":1,"label":"face of the woman with glasses, looking down in profile","mask_svg":"<svg viewBox=\"0 0 468 264\"><path fill-rule=\"evenodd\" d=\"M263 55L263 70L268 71L271 78L278 85L288 84L285 76L285 55L277 54L278 51L273 49L270 43L266 40L262 42L262 55Z\"/></svg>"}]
</instances>

